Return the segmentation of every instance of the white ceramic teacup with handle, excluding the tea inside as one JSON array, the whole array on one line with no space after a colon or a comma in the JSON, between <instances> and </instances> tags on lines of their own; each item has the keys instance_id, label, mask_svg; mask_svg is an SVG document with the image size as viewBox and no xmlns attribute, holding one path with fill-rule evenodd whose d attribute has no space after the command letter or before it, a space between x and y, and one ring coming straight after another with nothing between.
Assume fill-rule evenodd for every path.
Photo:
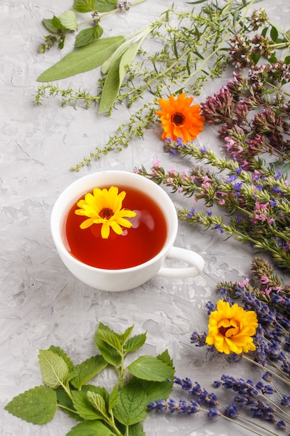
<instances>
[{"instance_id":1,"label":"white ceramic teacup with handle, excluding the tea inside","mask_svg":"<svg viewBox=\"0 0 290 436\"><path fill-rule=\"evenodd\" d=\"M95 187L132 186L150 195L159 204L167 222L167 238L163 248L147 262L120 270L105 270L92 267L77 260L67 251L63 240L65 221L72 205ZM166 192L156 183L129 171L99 171L89 174L69 185L57 198L51 212L51 233L59 256L75 277L92 288L106 291L129 290L140 286L154 276L194 277L204 268L203 258L187 249L174 247L178 218L175 206ZM164 267L166 258L184 260L188 267Z\"/></svg>"}]
</instances>

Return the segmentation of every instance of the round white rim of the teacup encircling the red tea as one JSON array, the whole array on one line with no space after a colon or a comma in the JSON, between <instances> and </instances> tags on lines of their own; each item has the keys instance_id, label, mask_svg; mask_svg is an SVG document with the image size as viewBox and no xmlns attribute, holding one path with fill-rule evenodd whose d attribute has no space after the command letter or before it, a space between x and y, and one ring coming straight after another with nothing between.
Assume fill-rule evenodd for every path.
<instances>
[{"instance_id":1,"label":"round white rim of the teacup encircling the red tea","mask_svg":"<svg viewBox=\"0 0 290 436\"><path fill-rule=\"evenodd\" d=\"M86 192L89 192L91 189L93 189L95 186L93 183L91 183L91 187L88 187L89 182L93 182L95 180L96 176L104 177L104 175L111 176L111 177L117 177L117 176L124 176L126 174L127 180L124 180L124 185L126 185L126 182L128 182L129 178L136 179L140 178L139 180L143 180L143 184L147 185L149 188L154 189L154 192L158 192L159 195L162 196L164 201L167 203L167 207L171 209L170 211L170 221L168 220L167 213L164 211L161 204L159 206L163 210L163 213L166 217L166 221L168 224L168 234L166 238L165 244L163 244L163 247L161 250L152 258L147 260L144 263L140 263L138 265L135 265L133 267L128 268L121 268L119 270L109 270L106 268L99 268L94 267L92 265L88 265L86 263L81 262L81 260L78 260L70 252L66 249L65 243L63 242L63 238L61 235L61 226L63 225L63 220L65 219L65 216L68 212L68 210L72 207L72 205L78 200L80 196L83 194L86 194ZM86 185L87 187L84 189L81 189L82 186ZM108 183L104 183L104 185L108 185ZM118 183L115 183L115 185L118 185ZM138 188L137 188L138 189ZM74 195L72 195L74 194ZM151 192L147 192L154 201L156 199L154 198L154 195L152 195ZM70 201L67 201L67 195L70 197ZM65 203L65 208L63 208L63 203ZM104 171L95 171L94 173L87 174L86 176L82 176L81 178L74 180L74 182L70 183L70 185L67 185L65 189L59 194L58 198L56 198L56 201L54 203L54 206L51 210L51 219L50 219L50 225L51 225L51 235L54 240L54 244L56 245L56 249L58 253L60 254L61 258L63 256L70 260L70 262L74 263L74 265L81 266L87 271L99 271L99 272L107 272L109 274L120 274L122 272L137 272L138 270L143 269L144 267L150 266L150 264L154 264L156 260L159 260L163 256L165 257L166 254L168 254L168 251L173 246L176 236L177 236L177 230L178 230L178 219L177 219L177 212L175 210L175 206L172 203L172 200L170 196L166 193L164 189L162 189L159 185L157 185L152 180L145 178L145 176L141 176L138 173L126 171L126 170L104 170ZM170 227L170 228L169 228Z\"/></svg>"}]
</instances>

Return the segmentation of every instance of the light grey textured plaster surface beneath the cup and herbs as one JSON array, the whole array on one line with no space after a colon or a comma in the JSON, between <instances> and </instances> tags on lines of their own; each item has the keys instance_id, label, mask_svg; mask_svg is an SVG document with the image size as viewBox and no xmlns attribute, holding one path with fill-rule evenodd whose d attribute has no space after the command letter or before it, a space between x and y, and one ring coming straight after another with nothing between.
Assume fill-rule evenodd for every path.
<instances>
[{"instance_id":1,"label":"light grey textured plaster surface beneath the cup and herbs","mask_svg":"<svg viewBox=\"0 0 290 436\"><path fill-rule=\"evenodd\" d=\"M179 9L189 8L177 0ZM70 167L88 156L95 146L104 146L108 136L130 114L127 109L114 111L111 118L97 116L97 109L62 108L47 98L41 107L34 104L36 78L64 52L56 49L38 54L46 34L42 18L59 15L72 6L71 0L0 1L0 434L3 436L63 436L74 425L61 412L45 426L21 421L3 407L13 396L41 384L38 350L49 345L61 346L75 364L94 355L93 336L99 322L122 332L134 324L136 334L147 330L142 352L156 355L168 348L180 377L191 377L209 387L209 380L227 370L242 376L249 368L220 361L196 350L190 344L191 332L207 326L204 303L216 299L216 283L223 279L243 279L248 274L252 251L234 240L227 240L201 228L179 224L176 245L200 252L205 259L204 272L195 279L155 278L140 288L124 293L103 293L84 285L67 271L56 254L49 219L58 194L73 180L99 169L127 169L144 164L150 167L156 157L161 164L183 169L184 159L172 162L163 155L160 130L146 132L144 140L133 141L122 153L111 153L79 173ZM139 29L171 6L171 1L147 0L129 14L109 17L104 22L107 36ZM261 1L268 15L286 26L289 1ZM60 82L90 89L96 88L96 72ZM80 86L80 87L81 87ZM207 93L220 82L209 84ZM204 91L205 93L206 91ZM205 97L200 96L200 100ZM197 99L197 101L200 101ZM218 148L213 132L206 130L200 143ZM172 197L177 208L188 204ZM96 382L110 387L114 377L109 371ZM204 428L204 423L207 427ZM145 421L148 436L232 434L222 421L209 423L200 416L161 416L151 414ZM240 435L246 435L239 429Z\"/></svg>"}]
</instances>

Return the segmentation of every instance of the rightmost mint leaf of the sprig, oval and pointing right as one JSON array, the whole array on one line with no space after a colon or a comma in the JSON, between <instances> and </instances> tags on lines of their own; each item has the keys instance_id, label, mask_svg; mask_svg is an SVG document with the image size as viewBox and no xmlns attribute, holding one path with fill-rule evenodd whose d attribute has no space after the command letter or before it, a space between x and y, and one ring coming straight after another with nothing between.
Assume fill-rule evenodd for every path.
<instances>
[{"instance_id":1,"label":"rightmost mint leaf of the sprig, oval and pointing right","mask_svg":"<svg viewBox=\"0 0 290 436\"><path fill-rule=\"evenodd\" d=\"M141 380L150 380L152 382L163 382L172 377L172 368L152 356L138 357L127 367L127 370Z\"/></svg>"}]
</instances>

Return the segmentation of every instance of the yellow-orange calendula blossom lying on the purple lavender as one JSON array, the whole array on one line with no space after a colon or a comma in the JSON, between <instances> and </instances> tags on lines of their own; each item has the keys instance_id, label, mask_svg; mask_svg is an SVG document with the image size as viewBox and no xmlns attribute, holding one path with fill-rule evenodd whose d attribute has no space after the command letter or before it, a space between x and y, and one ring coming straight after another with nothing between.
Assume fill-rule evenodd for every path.
<instances>
[{"instance_id":1,"label":"yellow-orange calendula blossom lying on the purple lavender","mask_svg":"<svg viewBox=\"0 0 290 436\"><path fill-rule=\"evenodd\" d=\"M252 336L258 327L257 315L254 311L245 311L243 307L219 300L217 310L209 316L208 345L214 345L216 350L234 352L253 351L256 349Z\"/></svg>"}]
</instances>

